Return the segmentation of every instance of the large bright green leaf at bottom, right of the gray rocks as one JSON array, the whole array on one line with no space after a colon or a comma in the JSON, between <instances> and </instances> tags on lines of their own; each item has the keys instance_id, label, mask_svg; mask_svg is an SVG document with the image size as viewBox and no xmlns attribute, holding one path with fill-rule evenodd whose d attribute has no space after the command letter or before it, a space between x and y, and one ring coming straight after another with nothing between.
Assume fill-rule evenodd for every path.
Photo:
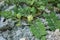
<instances>
[{"instance_id":1,"label":"large bright green leaf at bottom, right of the gray rocks","mask_svg":"<svg viewBox=\"0 0 60 40\"><path fill-rule=\"evenodd\" d=\"M44 37L46 35L46 29L40 19L35 20L34 23L31 24L30 29L35 37L46 40Z\"/></svg>"}]
</instances>

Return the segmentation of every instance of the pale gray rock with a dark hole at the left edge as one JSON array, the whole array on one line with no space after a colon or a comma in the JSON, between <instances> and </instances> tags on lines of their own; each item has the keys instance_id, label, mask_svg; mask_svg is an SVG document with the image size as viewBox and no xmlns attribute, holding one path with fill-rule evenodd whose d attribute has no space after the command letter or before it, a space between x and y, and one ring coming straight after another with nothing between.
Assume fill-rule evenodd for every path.
<instances>
[{"instance_id":1,"label":"pale gray rock with a dark hole at the left edge","mask_svg":"<svg viewBox=\"0 0 60 40\"><path fill-rule=\"evenodd\" d=\"M1 17L0 30L11 29L13 28L13 26L14 26L14 21L12 21L11 19L5 20L4 17Z\"/></svg>"}]
</instances>

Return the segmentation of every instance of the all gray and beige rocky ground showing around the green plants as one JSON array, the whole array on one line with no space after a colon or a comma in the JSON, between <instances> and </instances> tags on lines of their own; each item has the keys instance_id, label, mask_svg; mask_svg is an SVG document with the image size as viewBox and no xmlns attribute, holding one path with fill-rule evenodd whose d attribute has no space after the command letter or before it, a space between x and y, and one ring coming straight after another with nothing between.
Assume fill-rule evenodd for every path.
<instances>
[{"instance_id":1,"label":"all gray and beige rocky ground showing around the green plants","mask_svg":"<svg viewBox=\"0 0 60 40\"><path fill-rule=\"evenodd\" d=\"M4 1L0 2L1 6L4 6ZM2 10L11 10L15 5L7 6L5 5ZM50 12L47 10L47 12ZM60 14L57 14L59 16ZM47 24L46 20L41 18L44 24ZM16 27L15 21L12 19L5 20L4 17L0 17L0 40L38 40L31 33L29 26L26 22L22 22L23 26ZM46 27L48 29L48 26ZM47 30L46 40L60 40L60 31L56 29L55 31Z\"/></svg>"}]
</instances>

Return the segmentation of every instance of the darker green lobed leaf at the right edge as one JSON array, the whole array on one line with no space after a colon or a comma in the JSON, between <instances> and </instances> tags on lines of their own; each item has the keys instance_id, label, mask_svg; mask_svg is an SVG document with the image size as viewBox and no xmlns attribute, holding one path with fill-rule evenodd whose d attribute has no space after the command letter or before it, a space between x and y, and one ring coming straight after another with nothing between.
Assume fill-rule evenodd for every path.
<instances>
[{"instance_id":1,"label":"darker green lobed leaf at the right edge","mask_svg":"<svg viewBox=\"0 0 60 40\"><path fill-rule=\"evenodd\" d=\"M46 14L44 13L43 16L46 18L46 21L48 22L48 26L50 27L50 30L54 31L57 28L60 29L60 20L58 20L56 13L55 12L51 12L50 14Z\"/></svg>"}]
</instances>

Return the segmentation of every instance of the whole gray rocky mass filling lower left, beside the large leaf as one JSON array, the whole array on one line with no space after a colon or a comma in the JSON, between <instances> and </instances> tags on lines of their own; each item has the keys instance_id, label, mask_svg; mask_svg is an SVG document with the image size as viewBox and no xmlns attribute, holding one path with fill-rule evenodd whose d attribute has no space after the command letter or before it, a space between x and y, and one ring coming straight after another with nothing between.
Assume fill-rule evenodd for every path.
<instances>
[{"instance_id":1,"label":"whole gray rocky mass filling lower left, beside the large leaf","mask_svg":"<svg viewBox=\"0 0 60 40\"><path fill-rule=\"evenodd\" d=\"M26 40L37 40L33 34L31 33L29 27L27 24L25 24L25 22L22 23L22 25L24 25L21 27L16 27L14 25L15 21L11 20L11 19L6 19L4 17L1 17L0 20L0 31L1 30L5 30L5 31L1 31L1 35L4 39L7 40L22 40L23 38ZM4 24L4 25L3 25ZM12 30L9 30L9 28L12 28Z\"/></svg>"}]
</instances>

